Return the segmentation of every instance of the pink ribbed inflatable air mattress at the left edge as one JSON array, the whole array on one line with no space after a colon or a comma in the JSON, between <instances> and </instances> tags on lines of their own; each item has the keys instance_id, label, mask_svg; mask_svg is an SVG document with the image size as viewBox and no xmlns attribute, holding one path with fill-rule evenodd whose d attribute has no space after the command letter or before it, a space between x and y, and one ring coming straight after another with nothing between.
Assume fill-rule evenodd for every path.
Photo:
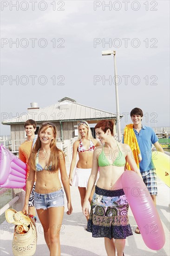
<instances>
[{"instance_id":1,"label":"pink ribbed inflatable air mattress at the left edge","mask_svg":"<svg viewBox=\"0 0 170 256\"><path fill-rule=\"evenodd\" d=\"M22 189L26 185L27 166L0 145L0 187Z\"/></svg>"}]
</instances>

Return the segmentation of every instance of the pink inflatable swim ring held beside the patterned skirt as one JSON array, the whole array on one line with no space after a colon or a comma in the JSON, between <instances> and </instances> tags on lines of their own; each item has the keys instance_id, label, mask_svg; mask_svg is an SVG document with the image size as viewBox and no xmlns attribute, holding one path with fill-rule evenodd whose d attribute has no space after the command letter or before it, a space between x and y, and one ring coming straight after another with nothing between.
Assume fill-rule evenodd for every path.
<instances>
[{"instance_id":1,"label":"pink inflatable swim ring held beside the patterned skirt","mask_svg":"<svg viewBox=\"0 0 170 256\"><path fill-rule=\"evenodd\" d=\"M135 172L127 170L122 175L122 185L144 243L152 250L160 250L165 243L165 234L144 182Z\"/></svg>"}]
</instances>

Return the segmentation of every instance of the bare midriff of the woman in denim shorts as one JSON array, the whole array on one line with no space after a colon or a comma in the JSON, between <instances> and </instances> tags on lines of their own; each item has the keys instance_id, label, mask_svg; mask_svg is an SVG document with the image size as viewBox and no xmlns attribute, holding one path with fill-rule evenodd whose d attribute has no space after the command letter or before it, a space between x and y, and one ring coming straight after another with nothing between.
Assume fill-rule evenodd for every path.
<instances>
[{"instance_id":1,"label":"bare midriff of the woman in denim shorts","mask_svg":"<svg viewBox=\"0 0 170 256\"><path fill-rule=\"evenodd\" d=\"M36 172L36 175L37 181L35 184L35 192L39 194L47 194L61 189L59 171L43 170Z\"/></svg>"}]
</instances>

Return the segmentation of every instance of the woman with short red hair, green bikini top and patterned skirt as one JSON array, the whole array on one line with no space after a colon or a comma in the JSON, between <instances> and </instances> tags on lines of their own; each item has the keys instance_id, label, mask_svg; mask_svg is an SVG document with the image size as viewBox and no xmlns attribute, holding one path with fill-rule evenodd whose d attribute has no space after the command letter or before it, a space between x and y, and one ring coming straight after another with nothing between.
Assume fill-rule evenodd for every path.
<instances>
[{"instance_id":1,"label":"woman with short red hair, green bikini top and patterned skirt","mask_svg":"<svg viewBox=\"0 0 170 256\"><path fill-rule=\"evenodd\" d=\"M92 172L83 204L83 213L86 216L88 198L96 182L99 168L87 231L92 232L93 237L105 238L107 255L115 256L117 250L118 256L123 256L125 239L132 235L132 231L128 220L129 204L122 188L121 175L124 173L126 161L130 164L131 170L138 175L140 172L131 156L131 148L114 139L112 121L98 122L95 131L102 146L94 149Z\"/></svg>"}]
</instances>

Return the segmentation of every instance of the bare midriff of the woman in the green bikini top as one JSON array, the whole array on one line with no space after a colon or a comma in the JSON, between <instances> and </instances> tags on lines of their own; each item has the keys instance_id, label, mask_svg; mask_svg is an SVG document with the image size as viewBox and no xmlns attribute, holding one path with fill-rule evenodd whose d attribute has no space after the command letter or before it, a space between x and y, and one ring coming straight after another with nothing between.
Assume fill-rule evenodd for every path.
<instances>
[{"instance_id":1,"label":"bare midriff of the woman in the green bikini top","mask_svg":"<svg viewBox=\"0 0 170 256\"><path fill-rule=\"evenodd\" d=\"M124 173L124 166L105 166L99 167L100 176L97 186L100 189L117 190L122 189L121 176Z\"/></svg>"}]
</instances>

